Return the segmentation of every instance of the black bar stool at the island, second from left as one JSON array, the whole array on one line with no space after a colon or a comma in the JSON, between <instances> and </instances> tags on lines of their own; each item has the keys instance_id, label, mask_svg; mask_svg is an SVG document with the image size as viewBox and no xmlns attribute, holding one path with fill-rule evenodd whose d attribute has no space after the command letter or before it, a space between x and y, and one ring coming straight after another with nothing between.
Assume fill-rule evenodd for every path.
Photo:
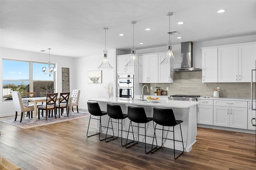
<instances>
[{"instance_id":1,"label":"black bar stool at the island, second from left","mask_svg":"<svg viewBox=\"0 0 256 170\"><path fill-rule=\"evenodd\" d=\"M128 117L127 114L123 114L122 109L119 105L112 105L112 104L107 104L107 114L109 116L108 119L108 128L112 129L113 131L113 136L111 137L112 139L106 140L106 142L112 141L114 139L117 139L119 137L119 124L121 124L121 145L122 147L125 145L123 145L123 119L125 119L126 117ZM112 121L112 119L118 119L118 121ZM119 120L121 120L121 122L119 122ZM111 122L112 128L109 127L109 122ZM113 124L112 123L117 123L118 124L118 136L115 137L114 136L114 130L113 130ZM106 137L108 135L108 128L107 128L107 133L106 133Z\"/></svg>"}]
</instances>

